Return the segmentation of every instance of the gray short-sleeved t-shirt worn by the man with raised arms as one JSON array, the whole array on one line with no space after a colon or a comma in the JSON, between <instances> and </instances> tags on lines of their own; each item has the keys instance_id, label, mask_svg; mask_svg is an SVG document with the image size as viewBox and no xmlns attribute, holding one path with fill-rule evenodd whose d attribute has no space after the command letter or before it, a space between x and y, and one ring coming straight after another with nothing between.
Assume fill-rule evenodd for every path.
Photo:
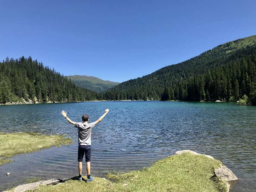
<instances>
[{"instance_id":1,"label":"gray short-sleeved t-shirt worn by the man with raised arms","mask_svg":"<svg viewBox=\"0 0 256 192\"><path fill-rule=\"evenodd\" d=\"M86 123L83 122L75 123L75 127L78 129L78 144L79 145L91 145L91 134L92 128L95 126L95 123Z\"/></svg>"}]
</instances>

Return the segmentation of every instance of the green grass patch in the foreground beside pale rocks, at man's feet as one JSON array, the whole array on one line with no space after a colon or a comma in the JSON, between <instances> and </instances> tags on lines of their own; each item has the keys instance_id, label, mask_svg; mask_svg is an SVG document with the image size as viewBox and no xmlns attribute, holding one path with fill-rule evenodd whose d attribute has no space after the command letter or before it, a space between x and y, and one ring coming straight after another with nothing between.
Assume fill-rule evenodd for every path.
<instances>
[{"instance_id":1,"label":"green grass patch in the foreground beside pale rocks, at man's feet","mask_svg":"<svg viewBox=\"0 0 256 192\"><path fill-rule=\"evenodd\" d=\"M146 169L108 174L108 178L114 182L98 177L90 183L69 180L59 185L40 186L34 192L224 192L226 191L224 182L213 177L214 170L219 167L220 161L216 159L185 153L169 156Z\"/></svg>"}]
</instances>

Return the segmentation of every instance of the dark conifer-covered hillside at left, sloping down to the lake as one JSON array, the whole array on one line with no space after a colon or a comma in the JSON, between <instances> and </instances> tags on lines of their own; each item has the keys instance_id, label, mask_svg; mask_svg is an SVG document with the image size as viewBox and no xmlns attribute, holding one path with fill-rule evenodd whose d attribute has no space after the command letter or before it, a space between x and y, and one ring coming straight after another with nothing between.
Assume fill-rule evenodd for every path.
<instances>
[{"instance_id":1,"label":"dark conifer-covered hillside at left, sloping down to the lake","mask_svg":"<svg viewBox=\"0 0 256 192\"><path fill-rule=\"evenodd\" d=\"M81 88L70 79L44 67L31 57L0 62L0 103L11 101L73 102L96 100L97 92Z\"/></svg>"}]
</instances>

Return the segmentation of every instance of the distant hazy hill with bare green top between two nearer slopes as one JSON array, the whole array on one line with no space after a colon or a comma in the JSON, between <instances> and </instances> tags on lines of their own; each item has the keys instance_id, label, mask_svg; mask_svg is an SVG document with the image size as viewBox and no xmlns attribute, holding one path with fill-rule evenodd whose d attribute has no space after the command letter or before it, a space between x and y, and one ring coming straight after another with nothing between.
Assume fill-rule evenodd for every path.
<instances>
[{"instance_id":1,"label":"distant hazy hill with bare green top between two nearer slopes","mask_svg":"<svg viewBox=\"0 0 256 192\"><path fill-rule=\"evenodd\" d=\"M76 85L79 85L80 87L97 92L106 91L119 84L118 82L104 81L97 77L86 75L71 75L67 76L67 78L71 79Z\"/></svg>"}]
</instances>

